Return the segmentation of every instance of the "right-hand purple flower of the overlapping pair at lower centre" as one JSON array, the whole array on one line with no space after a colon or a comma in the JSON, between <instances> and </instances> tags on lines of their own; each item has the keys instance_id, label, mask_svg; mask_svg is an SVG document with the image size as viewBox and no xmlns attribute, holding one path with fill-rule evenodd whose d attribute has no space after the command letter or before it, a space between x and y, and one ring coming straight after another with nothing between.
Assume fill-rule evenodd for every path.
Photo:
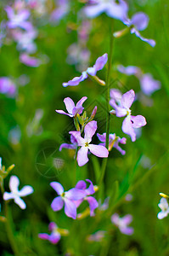
<instances>
[{"instance_id":1,"label":"right-hand purple flower of the overlapping pair at lower centre","mask_svg":"<svg viewBox=\"0 0 169 256\"><path fill-rule=\"evenodd\" d=\"M98 201L96 201L96 199L93 196L90 196L95 193L93 183L89 179L86 179L86 181L90 183L88 188L87 188L87 184L82 180L76 183L76 186L75 186L76 189L82 189L82 191L86 193L86 196L81 200L75 201L75 203L76 203L76 207L79 207L82 201L87 201L90 207L90 216L93 216L94 214L93 212L97 207L99 207L99 203Z\"/></svg>"}]
</instances>

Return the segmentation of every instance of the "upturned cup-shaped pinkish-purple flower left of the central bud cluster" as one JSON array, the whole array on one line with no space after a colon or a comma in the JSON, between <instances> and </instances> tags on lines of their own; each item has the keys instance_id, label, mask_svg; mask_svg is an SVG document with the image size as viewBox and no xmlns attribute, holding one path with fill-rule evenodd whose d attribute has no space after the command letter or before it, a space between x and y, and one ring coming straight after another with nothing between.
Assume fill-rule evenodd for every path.
<instances>
[{"instance_id":1,"label":"upturned cup-shaped pinkish-purple flower left of the central bud cluster","mask_svg":"<svg viewBox=\"0 0 169 256\"><path fill-rule=\"evenodd\" d=\"M77 113L81 114L83 111L83 107L82 104L83 102L85 102L87 100L87 97L84 96L82 97L82 99L76 103L75 103L70 99L70 97L67 97L64 99L64 103L65 103L65 108L67 109L68 113L65 113L65 111L63 110L56 110L57 113L63 113L66 115L69 115L70 117L75 117Z\"/></svg>"}]
</instances>

